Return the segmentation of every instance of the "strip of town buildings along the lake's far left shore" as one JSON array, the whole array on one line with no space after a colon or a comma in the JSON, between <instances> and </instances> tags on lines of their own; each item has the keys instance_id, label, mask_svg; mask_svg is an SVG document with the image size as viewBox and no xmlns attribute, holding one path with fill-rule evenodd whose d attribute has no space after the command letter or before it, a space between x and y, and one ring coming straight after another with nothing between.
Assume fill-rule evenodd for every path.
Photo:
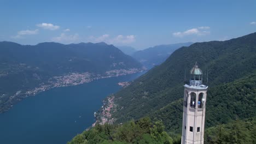
<instances>
[{"instance_id":1,"label":"strip of town buildings along the lake's far left shore","mask_svg":"<svg viewBox=\"0 0 256 144\"><path fill-rule=\"evenodd\" d=\"M115 70L106 71L106 73L103 75L100 75L100 74L95 75L95 74L86 72L86 73L70 73L68 75L63 75L63 76L54 76L48 80L48 83L46 84L42 83L39 87L30 89L25 93L22 93L21 91L16 92L3 105L4 107L1 107L0 113L8 111L16 101L19 101L31 95L36 95L39 92L47 91L51 88L75 86L75 85L80 85L82 83L91 82L94 80L99 80L99 79L104 79L104 78L114 77L114 76L135 74L142 71L143 71L142 69L135 69L135 68L128 69L128 70L115 69ZM125 87L129 85L129 82L120 82L118 83L118 85Z\"/></svg>"}]
</instances>

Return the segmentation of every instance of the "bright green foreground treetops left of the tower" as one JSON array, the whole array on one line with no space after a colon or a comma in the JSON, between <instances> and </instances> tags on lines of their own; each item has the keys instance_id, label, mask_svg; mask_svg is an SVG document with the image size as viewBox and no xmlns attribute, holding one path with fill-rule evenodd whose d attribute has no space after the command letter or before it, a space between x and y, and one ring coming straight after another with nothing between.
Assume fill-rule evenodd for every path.
<instances>
[{"instance_id":1,"label":"bright green foreground treetops left of the tower","mask_svg":"<svg viewBox=\"0 0 256 144\"><path fill-rule=\"evenodd\" d=\"M174 139L173 139L174 138ZM85 143L180 143L177 136L169 136L162 122L149 117L121 124L95 125L73 138L68 144Z\"/></svg>"}]
</instances>

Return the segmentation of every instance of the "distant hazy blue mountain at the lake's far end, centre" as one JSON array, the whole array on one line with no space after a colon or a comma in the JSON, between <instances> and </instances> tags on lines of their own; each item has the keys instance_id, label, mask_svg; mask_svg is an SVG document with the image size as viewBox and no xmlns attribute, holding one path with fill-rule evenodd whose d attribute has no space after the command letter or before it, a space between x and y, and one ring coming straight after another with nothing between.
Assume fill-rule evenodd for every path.
<instances>
[{"instance_id":1,"label":"distant hazy blue mountain at the lake's far end, centre","mask_svg":"<svg viewBox=\"0 0 256 144\"><path fill-rule=\"evenodd\" d=\"M141 62L148 69L164 62L175 50L193 43L179 43L170 45L158 45L148 49L134 52L131 56Z\"/></svg>"}]
</instances>

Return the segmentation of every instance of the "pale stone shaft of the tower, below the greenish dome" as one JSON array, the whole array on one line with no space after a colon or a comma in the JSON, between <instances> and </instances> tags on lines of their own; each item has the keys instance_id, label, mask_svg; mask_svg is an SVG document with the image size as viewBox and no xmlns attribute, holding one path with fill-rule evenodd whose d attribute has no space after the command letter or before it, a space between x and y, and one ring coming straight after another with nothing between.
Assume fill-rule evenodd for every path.
<instances>
[{"instance_id":1,"label":"pale stone shaft of the tower, below the greenish dome","mask_svg":"<svg viewBox=\"0 0 256 144\"><path fill-rule=\"evenodd\" d=\"M203 143L203 133L205 129L206 92L207 87L191 87L188 85L185 85L184 87L182 144ZM190 105L190 102L192 102L192 93L196 94L195 106ZM202 107L199 107L197 103L199 101L200 93L203 94L205 99L205 103ZM193 129L192 131L190 131L190 127ZM199 128L198 132L197 128Z\"/></svg>"}]
</instances>

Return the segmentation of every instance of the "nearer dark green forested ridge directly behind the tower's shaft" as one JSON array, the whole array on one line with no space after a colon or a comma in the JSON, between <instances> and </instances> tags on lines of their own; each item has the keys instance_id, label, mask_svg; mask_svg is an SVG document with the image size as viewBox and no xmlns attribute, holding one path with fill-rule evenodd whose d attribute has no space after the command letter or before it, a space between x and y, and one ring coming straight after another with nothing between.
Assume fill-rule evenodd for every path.
<instances>
[{"instance_id":1,"label":"nearer dark green forested ridge directly behind the tower's shaft","mask_svg":"<svg viewBox=\"0 0 256 144\"><path fill-rule=\"evenodd\" d=\"M256 116L256 73L234 82L210 88L207 94L205 126L228 123L232 119ZM150 115L165 124L166 130L182 132L183 98Z\"/></svg>"}]
</instances>

